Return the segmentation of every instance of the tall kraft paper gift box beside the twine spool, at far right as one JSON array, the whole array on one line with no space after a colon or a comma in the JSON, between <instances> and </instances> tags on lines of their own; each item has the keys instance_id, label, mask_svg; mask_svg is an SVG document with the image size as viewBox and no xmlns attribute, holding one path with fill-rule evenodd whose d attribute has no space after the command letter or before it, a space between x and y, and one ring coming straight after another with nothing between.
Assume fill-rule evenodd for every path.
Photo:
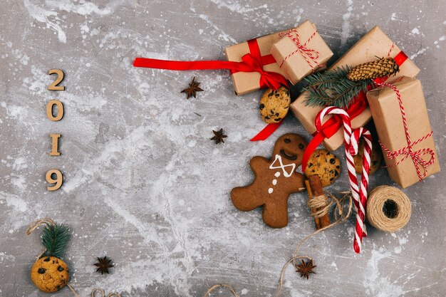
<instances>
[{"instance_id":1,"label":"tall kraft paper gift box beside the twine spool, at far right","mask_svg":"<svg viewBox=\"0 0 446 297\"><path fill-rule=\"evenodd\" d=\"M434 137L432 135L426 137L432 129L430 127L429 115L427 115L425 97L422 93L420 80L401 78L395 81L393 85L400 91L411 142L415 143L420 138L425 137L424 140L413 145L413 152L416 153L418 150L429 149L434 155L433 164L426 167L427 174L425 177L439 172L440 162L437 150L435 150ZM367 100L381 144L390 152L407 149L408 140L395 91L389 87L376 88L367 93ZM400 184L401 187L409 187L420 181L412 157L409 156L403 160L407 155L402 154L392 159L388 157L388 152L384 149L383 155L385 165L390 166L387 168L390 178L397 184ZM427 153L420 157L425 162L428 162L431 155ZM396 165L398 162L400 163ZM425 169L421 165L419 165L419 168L420 174L423 174Z\"/></svg>"}]
</instances>

